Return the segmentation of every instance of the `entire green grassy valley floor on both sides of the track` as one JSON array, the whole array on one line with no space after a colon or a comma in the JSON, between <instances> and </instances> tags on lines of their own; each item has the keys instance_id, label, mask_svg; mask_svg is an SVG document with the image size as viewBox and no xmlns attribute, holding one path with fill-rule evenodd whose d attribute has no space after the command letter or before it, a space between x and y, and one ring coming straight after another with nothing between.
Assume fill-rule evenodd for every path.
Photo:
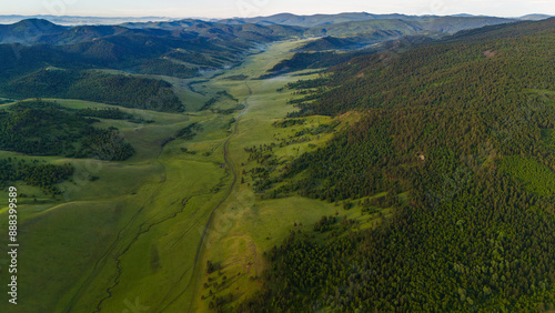
<instances>
[{"instance_id":1,"label":"entire green grassy valley floor on both sides of the track","mask_svg":"<svg viewBox=\"0 0 555 313\"><path fill-rule=\"evenodd\" d=\"M10 312L122 312L139 304L150 312L205 312L210 290L214 296L232 293L233 303L252 294L266 266L264 251L279 244L291 230L310 229L322 215L336 213L356 218L361 228L371 226L377 214L363 215L357 206L343 211L335 203L300 196L261 200L248 183L240 183L242 170L253 166L245 148L279 142L303 128L331 122L327 117L313 117L300 127L272 125L295 110L285 104L292 95L278 89L296 81L297 75L225 79L258 78L291 58L290 51L299 44L302 42L269 46L242 65L219 77L206 74L200 82L164 77L185 103L185 113L120 108L153 122L101 119L97 127L117 127L134 147L135 155L127 161L33 158L69 162L75 174L60 184L63 195L58 198L17 183L28 196L20 199L19 208L21 304ZM238 101L224 97L214 102L214 110L198 111L222 91ZM74 109L112 107L44 100ZM244 109L218 113L235 103ZM10 104L0 108L6 105ZM346 124L354 119L344 115L339 122ZM168 142L191 123L198 123L202 131L191 140ZM285 145L276 149L275 155L294 158L331 137L326 133ZM0 158L8 156L30 159L0 152ZM91 176L99 179L91 181ZM7 203L6 196L6 192L0 194L1 203ZM7 220L6 208L0 208L2 229ZM0 240L0 244L6 243L6 239ZM6 264L2 258L0 262ZM208 260L221 269L206 275ZM4 305L0 303L1 312L6 312Z\"/></svg>"}]
</instances>

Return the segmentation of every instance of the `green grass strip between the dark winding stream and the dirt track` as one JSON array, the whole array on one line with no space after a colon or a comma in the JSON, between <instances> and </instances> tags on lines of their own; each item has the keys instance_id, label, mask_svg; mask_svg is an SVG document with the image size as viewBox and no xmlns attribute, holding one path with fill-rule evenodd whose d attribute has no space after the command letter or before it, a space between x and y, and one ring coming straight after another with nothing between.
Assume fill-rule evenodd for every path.
<instances>
[{"instance_id":1,"label":"green grass strip between the dark winding stream and the dirt track","mask_svg":"<svg viewBox=\"0 0 555 313\"><path fill-rule=\"evenodd\" d=\"M120 258L121 283L113 289L114 296L104 307L118 307L125 299L137 296L145 304L162 307L163 301L174 299L193 275L199 229L221 198L222 191L214 194L211 190L224 178L224 170L195 161L169 159L162 163L167 180L148 201L138 196L137 205L144 205L143 224L133 234L137 241L130 242L129 250ZM184 201L188 202L183 206ZM160 267L152 264L152 249L159 260L154 263ZM157 289L149 287L152 285ZM184 294L183 299L188 297L189 294Z\"/></svg>"}]
</instances>

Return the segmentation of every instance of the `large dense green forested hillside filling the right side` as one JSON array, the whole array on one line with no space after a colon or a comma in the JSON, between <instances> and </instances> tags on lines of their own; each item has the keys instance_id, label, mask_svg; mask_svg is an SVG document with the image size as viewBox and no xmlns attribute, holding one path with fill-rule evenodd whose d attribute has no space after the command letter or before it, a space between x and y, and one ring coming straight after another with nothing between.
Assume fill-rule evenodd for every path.
<instances>
[{"instance_id":1,"label":"large dense green forested hillside filling the right side","mask_svg":"<svg viewBox=\"0 0 555 313\"><path fill-rule=\"evenodd\" d=\"M301 115L360 120L260 183L265 195L393 213L375 229L322 219L292 232L239 311L553 310L554 53L549 19L359 57L291 84L313 92Z\"/></svg>"}]
</instances>

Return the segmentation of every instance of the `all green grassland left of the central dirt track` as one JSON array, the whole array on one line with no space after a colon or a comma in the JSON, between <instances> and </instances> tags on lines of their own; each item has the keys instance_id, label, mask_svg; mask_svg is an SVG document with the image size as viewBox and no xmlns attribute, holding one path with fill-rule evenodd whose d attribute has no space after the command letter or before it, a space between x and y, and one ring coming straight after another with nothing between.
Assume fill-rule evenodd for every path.
<instances>
[{"instance_id":1,"label":"all green grassland left of the central dirt track","mask_svg":"<svg viewBox=\"0 0 555 313\"><path fill-rule=\"evenodd\" d=\"M109 107L78 100L57 101L75 109ZM37 194L39 202L20 199L23 205L19 210L19 222L24 229L20 235L20 299L31 300L21 301L14 311L9 307L10 312L61 312L70 304L74 312L93 311L114 282L118 255L120 283L113 287L112 297L102 303L103 311L121 312L125 309L124 301L133 303L135 297L145 305L160 306L162 300L176 297L189 285L195 256L192 252L200 241L199 229L223 196L230 180L229 173L220 168L221 143L229 135L222 128L229 121L222 117L121 110L155 121L134 124L102 120L97 124L118 127L133 144L137 154L124 162L30 158L0 151L0 158L70 162L75 166L75 175L60 185L67 191L65 199L50 199L17 183L22 192ZM204 119L211 125L201 137L210 138L212 155L184 154L179 147L189 142L183 141L170 142L162 150L161 142L189 124L190 119ZM89 181L90 175L100 179ZM216 186L220 191L214 191ZM189 201L183 208L184 199ZM4 191L0 193L0 201L7 203ZM2 229L7 220L2 204ZM0 244L6 243L6 239L0 240ZM157 252L159 271L145 270L151 266L151 256L142 256L151 250ZM180 271L182 276L176 275ZM180 299L192 302L191 296L185 292ZM8 310L6 303L0 304L1 312Z\"/></svg>"}]
</instances>

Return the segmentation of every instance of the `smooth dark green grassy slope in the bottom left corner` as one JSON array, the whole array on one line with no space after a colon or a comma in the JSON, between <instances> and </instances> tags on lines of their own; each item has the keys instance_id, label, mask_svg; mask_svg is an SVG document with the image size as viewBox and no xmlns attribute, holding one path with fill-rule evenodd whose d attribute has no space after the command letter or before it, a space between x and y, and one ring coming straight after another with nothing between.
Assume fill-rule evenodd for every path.
<instances>
[{"instance_id":1,"label":"smooth dark green grassy slope in the bottom left corner","mask_svg":"<svg viewBox=\"0 0 555 313\"><path fill-rule=\"evenodd\" d=\"M57 302L100 256L102 243L113 238L117 214L114 203L68 203L21 222L19 304L6 307L1 303L2 312L53 312ZM0 219L6 229L6 213ZM6 243L2 240L2 245Z\"/></svg>"}]
</instances>

